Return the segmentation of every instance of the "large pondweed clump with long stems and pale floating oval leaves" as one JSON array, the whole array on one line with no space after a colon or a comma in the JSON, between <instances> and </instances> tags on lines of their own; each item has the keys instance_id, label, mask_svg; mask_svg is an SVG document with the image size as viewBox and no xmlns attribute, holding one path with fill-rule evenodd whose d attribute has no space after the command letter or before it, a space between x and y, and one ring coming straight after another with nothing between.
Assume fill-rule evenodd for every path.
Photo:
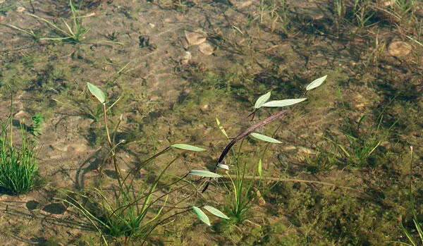
<instances>
[{"instance_id":1,"label":"large pondweed clump with long stems and pale floating oval leaves","mask_svg":"<svg viewBox=\"0 0 423 246\"><path fill-rule=\"evenodd\" d=\"M168 164L157 173L152 183L147 182L152 173L149 173L141 183L135 182L135 176L137 176L141 168L151 164L157 157L171 151L171 149L194 152L204 151L204 149L200 147L189 144L172 144L161 152L142 161L124 175L121 168L118 166L118 159L116 157L116 149L118 145L123 144L124 141L115 142L116 130L121 123L121 119L115 125L114 131L110 132L107 118L107 102L104 93L99 87L90 83L87 83L87 87L93 97L99 100L103 109L104 131L106 132L109 154L111 162L114 164L114 171L118 184L111 192L107 192L107 190L101 187L87 189L85 192L72 192L68 190L66 191L68 194L67 198L62 200L80 211L80 213L92 223L106 245L108 244L107 238L109 236L113 238L123 238L125 245L133 238L139 238L142 240L142 244L144 244L146 242L145 240L147 240L148 236L155 228L167 223L174 216L188 211L193 211L201 221L209 226L211 225L209 217L202 209L209 211L215 216L228 219L225 214L214 207L208 205L193 206L187 201L190 195L180 199L178 202L168 202L168 197L171 193L178 192L183 189L183 187L192 185L192 182L188 182L188 184L176 187L176 185L185 180L188 175L200 176L202 178L221 177L219 174L210 171L192 170L173 183L165 185L166 192L160 190L158 185L161 179L164 177L166 170L179 159L180 154L178 154L176 158L173 158L172 161L169 161ZM116 102L114 104L116 104ZM114 104L111 104L111 106ZM109 109L111 106L109 106ZM102 171L102 168L100 168L100 171ZM202 178L200 178L200 180ZM178 205L183 202L188 205L185 207L178 207Z\"/></svg>"}]
</instances>

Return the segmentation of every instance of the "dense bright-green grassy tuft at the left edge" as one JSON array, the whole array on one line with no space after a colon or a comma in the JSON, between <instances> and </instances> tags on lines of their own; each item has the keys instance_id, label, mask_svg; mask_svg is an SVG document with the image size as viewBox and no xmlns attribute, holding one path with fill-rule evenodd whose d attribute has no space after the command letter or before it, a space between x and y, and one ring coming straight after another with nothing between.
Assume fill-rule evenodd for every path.
<instances>
[{"instance_id":1,"label":"dense bright-green grassy tuft at the left edge","mask_svg":"<svg viewBox=\"0 0 423 246\"><path fill-rule=\"evenodd\" d=\"M11 115L6 122L0 123L0 190L18 195L31 190L38 164L35 147L27 137L22 123L20 123L22 142L20 146L13 144L12 102L13 97L11 96ZM8 128L10 128L9 135Z\"/></svg>"}]
</instances>

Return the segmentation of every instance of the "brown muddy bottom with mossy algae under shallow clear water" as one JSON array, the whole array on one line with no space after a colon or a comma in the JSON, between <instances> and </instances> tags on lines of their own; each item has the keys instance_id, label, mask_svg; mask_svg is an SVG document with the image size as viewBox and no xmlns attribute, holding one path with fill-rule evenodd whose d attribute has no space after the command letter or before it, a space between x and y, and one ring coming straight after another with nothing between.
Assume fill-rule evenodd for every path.
<instances>
[{"instance_id":1,"label":"brown muddy bottom with mossy algae under shallow clear water","mask_svg":"<svg viewBox=\"0 0 423 246\"><path fill-rule=\"evenodd\" d=\"M423 6L339 3L74 1L73 12L69 1L0 1L0 116L6 122L12 103L13 134L23 121L39 165L30 192L0 195L0 244L410 243L401 225L419 242L410 178L419 223ZM305 93L323 75L324 84ZM175 190L168 215L209 205L230 219L206 211L207 226L187 209L128 241L72 206L69 194L88 206L90 199L76 197L101 200L95 187L114 201L118 186L102 105L87 82L104 92L107 106L116 102L109 130L119 123L118 167L123 175L136 168L134 190L145 192L158 178L154 197ZM219 170L223 177L207 192L207 179L193 176L191 186L171 185L193 169L214 171L233 137L283 110L265 107L253 117L269 91L271 101L307 97L255 130L280 143L238 141L223 163L230 171ZM137 168L178 143L205 151L172 149ZM247 184L238 199L250 201L242 218L233 212L237 167Z\"/></svg>"}]
</instances>

